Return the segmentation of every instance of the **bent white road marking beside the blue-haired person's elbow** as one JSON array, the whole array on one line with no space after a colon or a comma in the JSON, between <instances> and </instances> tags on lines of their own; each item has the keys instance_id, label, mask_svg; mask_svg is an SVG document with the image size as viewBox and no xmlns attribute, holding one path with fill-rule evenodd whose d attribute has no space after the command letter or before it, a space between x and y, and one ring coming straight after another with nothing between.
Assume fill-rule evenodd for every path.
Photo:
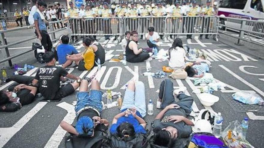
<instances>
[{"instance_id":1,"label":"bent white road marking beside the blue-haired person's elbow","mask_svg":"<svg viewBox=\"0 0 264 148\"><path fill-rule=\"evenodd\" d=\"M59 103L57 106L62 109L65 109L68 112L67 115L63 118L63 120L69 124L72 124L74 118L76 117L74 106L66 102ZM65 134L66 131L62 129L61 126L59 125L55 130L55 132L53 133L53 135L49 138L49 141L47 142L44 148L58 147Z\"/></svg>"}]
</instances>

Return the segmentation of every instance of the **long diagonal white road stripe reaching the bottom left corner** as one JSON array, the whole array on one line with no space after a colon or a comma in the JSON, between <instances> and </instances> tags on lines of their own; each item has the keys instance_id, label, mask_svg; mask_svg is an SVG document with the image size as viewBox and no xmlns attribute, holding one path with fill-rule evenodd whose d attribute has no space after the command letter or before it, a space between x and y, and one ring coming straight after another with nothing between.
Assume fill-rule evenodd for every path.
<instances>
[{"instance_id":1,"label":"long diagonal white road stripe reaching the bottom left corner","mask_svg":"<svg viewBox=\"0 0 264 148\"><path fill-rule=\"evenodd\" d=\"M47 102L39 102L33 109L31 109L26 115L24 115L19 121L12 127L0 128L0 147L3 147L12 137L16 134L27 122L40 111Z\"/></svg>"}]
</instances>

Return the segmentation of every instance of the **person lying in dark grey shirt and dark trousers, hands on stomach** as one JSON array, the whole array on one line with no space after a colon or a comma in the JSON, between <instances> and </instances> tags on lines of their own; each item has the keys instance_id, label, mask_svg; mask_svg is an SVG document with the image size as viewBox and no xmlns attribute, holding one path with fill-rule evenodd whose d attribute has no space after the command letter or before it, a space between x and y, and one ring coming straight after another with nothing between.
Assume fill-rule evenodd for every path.
<instances>
[{"instance_id":1,"label":"person lying in dark grey shirt and dark trousers, hands on stomach","mask_svg":"<svg viewBox=\"0 0 264 148\"><path fill-rule=\"evenodd\" d=\"M157 108L163 110L153 122L154 144L177 147L178 144L182 144L179 142L181 138L187 138L192 133L193 122L186 117L190 114L193 98L185 95L185 91L186 87L174 91L179 99L176 102L173 96L173 83L169 79L161 82Z\"/></svg>"}]
</instances>

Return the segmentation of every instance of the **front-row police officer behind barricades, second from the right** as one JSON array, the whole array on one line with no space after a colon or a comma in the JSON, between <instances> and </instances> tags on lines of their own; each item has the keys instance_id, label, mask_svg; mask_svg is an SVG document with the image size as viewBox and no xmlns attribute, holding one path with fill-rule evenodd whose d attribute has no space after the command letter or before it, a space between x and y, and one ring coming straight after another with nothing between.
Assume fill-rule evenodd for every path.
<instances>
[{"instance_id":1,"label":"front-row police officer behind barricades, second from the right","mask_svg":"<svg viewBox=\"0 0 264 148\"><path fill-rule=\"evenodd\" d=\"M199 15L199 10L196 7L196 1L192 2L192 7L190 7L190 10L187 14L187 16L198 16ZM196 24L196 17L189 17L188 18L188 26L187 26L187 33L193 33L194 30L194 25ZM187 34L187 39L192 39L191 34Z\"/></svg>"}]
</instances>

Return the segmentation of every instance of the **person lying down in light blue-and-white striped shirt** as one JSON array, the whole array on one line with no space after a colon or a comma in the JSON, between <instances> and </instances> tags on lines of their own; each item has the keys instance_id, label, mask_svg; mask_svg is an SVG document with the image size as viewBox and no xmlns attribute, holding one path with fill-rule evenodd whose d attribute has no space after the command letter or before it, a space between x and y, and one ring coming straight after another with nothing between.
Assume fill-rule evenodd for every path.
<instances>
[{"instance_id":1,"label":"person lying down in light blue-and-white striped shirt","mask_svg":"<svg viewBox=\"0 0 264 148\"><path fill-rule=\"evenodd\" d=\"M187 66L185 71L188 77L201 78L206 72L209 72L209 65L205 62L194 62L193 65Z\"/></svg>"}]
</instances>

